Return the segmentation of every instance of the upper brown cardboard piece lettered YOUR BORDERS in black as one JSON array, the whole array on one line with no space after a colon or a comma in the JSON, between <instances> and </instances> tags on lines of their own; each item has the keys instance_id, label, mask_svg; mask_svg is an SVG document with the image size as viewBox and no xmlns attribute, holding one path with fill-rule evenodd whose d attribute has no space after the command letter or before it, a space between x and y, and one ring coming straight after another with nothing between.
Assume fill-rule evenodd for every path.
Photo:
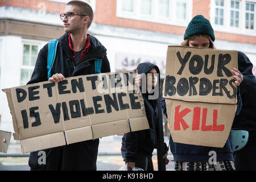
<instances>
[{"instance_id":1,"label":"upper brown cardboard piece lettered YOUR BORDERS in black","mask_svg":"<svg viewBox=\"0 0 256 182\"><path fill-rule=\"evenodd\" d=\"M189 56L189 52L191 52L191 55ZM165 98L171 98L171 99L176 99L176 100L186 100L186 101L199 101L199 102L212 102L212 103L222 103L222 104L236 104L236 84L234 83L234 77L231 73L231 75L227 76L224 72L223 69L218 69L218 57L220 55L227 55L226 60L228 59L228 55L230 55L230 62L228 64L226 64L224 67L227 68L230 72L232 70L232 68L237 68L237 51L224 51L224 50L218 50L218 49L201 49L201 48L191 48L191 47L187 47L187 46L168 46L168 50L167 50L167 57L166 57L166 76L164 79L164 89L163 89L163 97ZM187 61L187 63L185 64L185 67L183 69L183 71L180 71L181 68L181 63L179 61L179 56L181 59L185 59L185 55L189 56L189 59ZM202 67L200 67L199 64L201 61L195 61L195 64L193 63L193 60L195 57L199 57L201 56L202 60L203 60L203 64ZM208 66L205 67L205 55L208 55ZM208 71L206 74L204 71L204 68L209 69L210 65L212 63L212 55L215 55L215 59L214 59L214 69L213 71L210 73L210 71ZM193 57L193 59L192 59ZM220 59L221 60L221 59ZM189 64L191 63L191 67L189 67ZM198 64L197 64L198 63ZM220 63L224 63L223 61L220 61ZM222 65L222 64L219 64ZM191 68L191 69L189 69ZM200 69L201 68L201 72ZM223 68L223 67L221 67ZM224 68L224 69L225 69ZM193 72L191 72L191 70ZM221 71L223 76L218 76L218 71ZM195 75L194 75L195 74ZM175 78L175 84L172 84L173 86L171 86L171 89L175 89L176 92L172 92L170 94L167 93L168 90L168 84L167 84L167 76L169 77L170 83L173 80L173 78ZM172 78L171 78L172 77ZM189 82L189 77L191 77L191 82L192 79L195 78L199 78L199 80L196 82L195 84L195 89L196 92L194 92L193 87L190 85ZM181 80L182 78L182 80ZM185 79L184 79L185 78ZM210 92L206 95L201 95L200 96L200 79L201 78L207 78L210 83L212 84L212 89L210 89ZM188 83L188 88L185 86L179 86L180 89L178 89L178 82L180 81L180 84L183 85L187 85L184 82L186 82L185 80L187 80ZM213 82L213 80L216 80ZM194 80L196 81L196 80ZM228 83L225 85L225 81L227 81ZM182 83L183 82L183 83ZM220 82L222 82L221 85L225 85L225 88L227 90L227 92L230 92L229 95L232 98L229 98L225 92L225 90L220 89ZM202 81L203 83L203 81ZM169 84L170 85L170 84ZM203 84L202 84L203 85ZM214 86L213 86L214 85ZM215 88L213 91L213 87ZM187 91L187 89L188 91ZM169 90L171 90L169 88ZM184 90L182 90L184 89ZM180 92L178 92L180 90ZM221 93L222 90L222 94L223 96L219 96L218 94ZM183 91L183 92L182 92ZM187 91L187 92L186 92ZM203 94L203 92L201 92ZM183 94L185 94L183 96ZM191 94L191 95L189 95ZM195 95L193 95L195 94ZM171 95L171 96L170 96Z\"/></svg>"}]
</instances>

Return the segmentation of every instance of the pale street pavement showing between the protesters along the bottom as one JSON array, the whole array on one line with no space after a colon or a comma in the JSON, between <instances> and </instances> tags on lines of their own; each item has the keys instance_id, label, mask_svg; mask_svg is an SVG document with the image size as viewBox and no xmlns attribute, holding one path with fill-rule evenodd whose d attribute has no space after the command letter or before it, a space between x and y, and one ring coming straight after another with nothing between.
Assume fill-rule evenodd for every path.
<instances>
[{"instance_id":1,"label":"pale street pavement showing between the protesters along the bottom","mask_svg":"<svg viewBox=\"0 0 256 182\"><path fill-rule=\"evenodd\" d=\"M168 144L168 138L164 138ZM121 142L122 135L115 135L100 139L97 157L98 171L117 171L125 162L121 156ZM19 144L10 144L7 154L0 153L0 171L28 171L28 156L29 154L22 154ZM172 154L168 154L169 160L174 160ZM152 162L154 169L157 170L157 156L156 150L153 152ZM174 169L174 162L170 161L166 166L167 170Z\"/></svg>"}]
</instances>

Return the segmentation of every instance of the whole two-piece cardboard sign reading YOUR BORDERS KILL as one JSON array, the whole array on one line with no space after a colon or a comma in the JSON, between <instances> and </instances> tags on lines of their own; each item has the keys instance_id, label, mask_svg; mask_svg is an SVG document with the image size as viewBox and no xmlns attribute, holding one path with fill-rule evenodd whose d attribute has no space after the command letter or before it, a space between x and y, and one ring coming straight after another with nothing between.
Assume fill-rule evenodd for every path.
<instances>
[{"instance_id":1,"label":"whole two-piece cardboard sign reading YOUR BORDERS KILL","mask_svg":"<svg viewBox=\"0 0 256 182\"><path fill-rule=\"evenodd\" d=\"M236 113L237 51L169 46L163 97L172 139L224 147Z\"/></svg>"}]
</instances>

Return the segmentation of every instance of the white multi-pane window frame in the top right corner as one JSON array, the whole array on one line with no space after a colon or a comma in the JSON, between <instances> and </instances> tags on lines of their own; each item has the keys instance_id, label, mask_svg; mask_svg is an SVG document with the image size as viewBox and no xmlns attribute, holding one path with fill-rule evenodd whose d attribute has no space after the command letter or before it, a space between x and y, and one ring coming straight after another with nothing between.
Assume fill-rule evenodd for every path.
<instances>
[{"instance_id":1,"label":"white multi-pane window frame in the top right corner","mask_svg":"<svg viewBox=\"0 0 256 182\"><path fill-rule=\"evenodd\" d=\"M223 26L215 24L215 0L210 1L210 23L213 30L218 32L226 32L230 34L239 34L247 36L256 36L256 0L235 0L240 2L239 10L239 27L230 26L231 0L224 0L224 23ZM246 2L254 4L254 30L245 28Z\"/></svg>"}]
</instances>

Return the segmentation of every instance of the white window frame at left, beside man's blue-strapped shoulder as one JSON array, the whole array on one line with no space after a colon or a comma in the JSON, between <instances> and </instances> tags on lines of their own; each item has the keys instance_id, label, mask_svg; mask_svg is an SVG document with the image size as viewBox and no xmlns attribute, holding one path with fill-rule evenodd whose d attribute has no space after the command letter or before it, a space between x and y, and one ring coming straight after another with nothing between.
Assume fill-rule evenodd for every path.
<instances>
[{"instance_id":1,"label":"white window frame at left, beside man's blue-strapped shoulder","mask_svg":"<svg viewBox=\"0 0 256 182\"><path fill-rule=\"evenodd\" d=\"M29 46L38 46L38 53L39 53L39 51L40 51L40 48L42 47L42 43L41 42L38 42L38 41L27 41L27 40L23 40L22 41L22 58L21 58L21 63L20 63L20 73L19 73L19 84L20 85L23 85L22 84L22 80L21 80L21 74L22 74L22 69L30 69L32 72L34 71L34 68L35 68L35 66L32 66L32 65L23 65L23 48L24 48L24 45L29 45ZM37 53L37 55L38 55L38 53ZM31 75L32 75L32 72L31 72ZM28 78L28 80L27 81L29 81L30 80L30 78ZM25 83L26 84L26 83Z\"/></svg>"}]
</instances>

